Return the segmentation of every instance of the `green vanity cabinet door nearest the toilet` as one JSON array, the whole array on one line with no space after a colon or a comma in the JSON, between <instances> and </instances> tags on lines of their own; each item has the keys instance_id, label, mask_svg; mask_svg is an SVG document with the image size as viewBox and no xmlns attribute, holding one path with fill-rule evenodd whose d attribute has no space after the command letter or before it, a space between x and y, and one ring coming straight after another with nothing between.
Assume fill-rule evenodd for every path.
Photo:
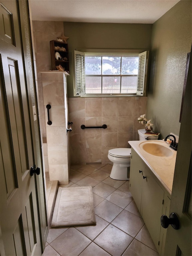
<instances>
[{"instance_id":1,"label":"green vanity cabinet door nearest the toilet","mask_svg":"<svg viewBox=\"0 0 192 256\"><path fill-rule=\"evenodd\" d=\"M141 158L133 151L133 149L131 149L130 191L140 212L144 169L145 164Z\"/></svg>"}]
</instances>

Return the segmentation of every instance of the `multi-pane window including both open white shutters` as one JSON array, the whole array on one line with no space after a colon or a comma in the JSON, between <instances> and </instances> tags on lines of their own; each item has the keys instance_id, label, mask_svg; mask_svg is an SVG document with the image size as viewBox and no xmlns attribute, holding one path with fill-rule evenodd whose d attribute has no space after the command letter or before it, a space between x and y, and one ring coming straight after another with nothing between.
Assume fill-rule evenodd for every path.
<instances>
[{"instance_id":1,"label":"multi-pane window including both open white shutters","mask_svg":"<svg viewBox=\"0 0 192 256\"><path fill-rule=\"evenodd\" d=\"M74 51L75 96L145 95L148 51Z\"/></svg>"}]
</instances>

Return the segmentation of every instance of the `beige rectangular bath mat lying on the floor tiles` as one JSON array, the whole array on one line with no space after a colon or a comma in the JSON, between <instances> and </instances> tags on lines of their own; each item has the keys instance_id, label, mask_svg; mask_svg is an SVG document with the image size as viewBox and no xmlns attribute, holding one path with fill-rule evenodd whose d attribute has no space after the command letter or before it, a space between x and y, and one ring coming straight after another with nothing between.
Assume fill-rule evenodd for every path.
<instances>
[{"instance_id":1,"label":"beige rectangular bath mat lying on the floor tiles","mask_svg":"<svg viewBox=\"0 0 192 256\"><path fill-rule=\"evenodd\" d=\"M59 187L51 227L93 224L96 221L92 187Z\"/></svg>"}]
</instances>

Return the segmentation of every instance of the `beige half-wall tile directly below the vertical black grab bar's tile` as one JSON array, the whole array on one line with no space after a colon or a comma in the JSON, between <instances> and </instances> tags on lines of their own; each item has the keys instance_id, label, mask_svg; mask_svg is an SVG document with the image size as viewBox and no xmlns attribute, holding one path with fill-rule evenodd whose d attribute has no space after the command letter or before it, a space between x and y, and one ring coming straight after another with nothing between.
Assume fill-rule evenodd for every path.
<instances>
[{"instance_id":1,"label":"beige half-wall tile directly below the vertical black grab bar's tile","mask_svg":"<svg viewBox=\"0 0 192 256\"><path fill-rule=\"evenodd\" d=\"M47 146L66 146L66 127L46 126Z\"/></svg>"}]
</instances>

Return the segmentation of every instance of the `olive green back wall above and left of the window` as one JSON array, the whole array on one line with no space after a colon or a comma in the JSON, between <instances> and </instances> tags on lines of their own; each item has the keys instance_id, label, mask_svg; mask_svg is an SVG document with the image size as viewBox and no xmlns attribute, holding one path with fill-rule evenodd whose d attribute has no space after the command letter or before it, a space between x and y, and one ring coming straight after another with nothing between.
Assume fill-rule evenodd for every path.
<instances>
[{"instance_id":1,"label":"olive green back wall above and left of the window","mask_svg":"<svg viewBox=\"0 0 192 256\"><path fill-rule=\"evenodd\" d=\"M68 36L70 77L68 97L73 97L73 50L76 49L150 49L152 24L64 22Z\"/></svg>"}]
</instances>

